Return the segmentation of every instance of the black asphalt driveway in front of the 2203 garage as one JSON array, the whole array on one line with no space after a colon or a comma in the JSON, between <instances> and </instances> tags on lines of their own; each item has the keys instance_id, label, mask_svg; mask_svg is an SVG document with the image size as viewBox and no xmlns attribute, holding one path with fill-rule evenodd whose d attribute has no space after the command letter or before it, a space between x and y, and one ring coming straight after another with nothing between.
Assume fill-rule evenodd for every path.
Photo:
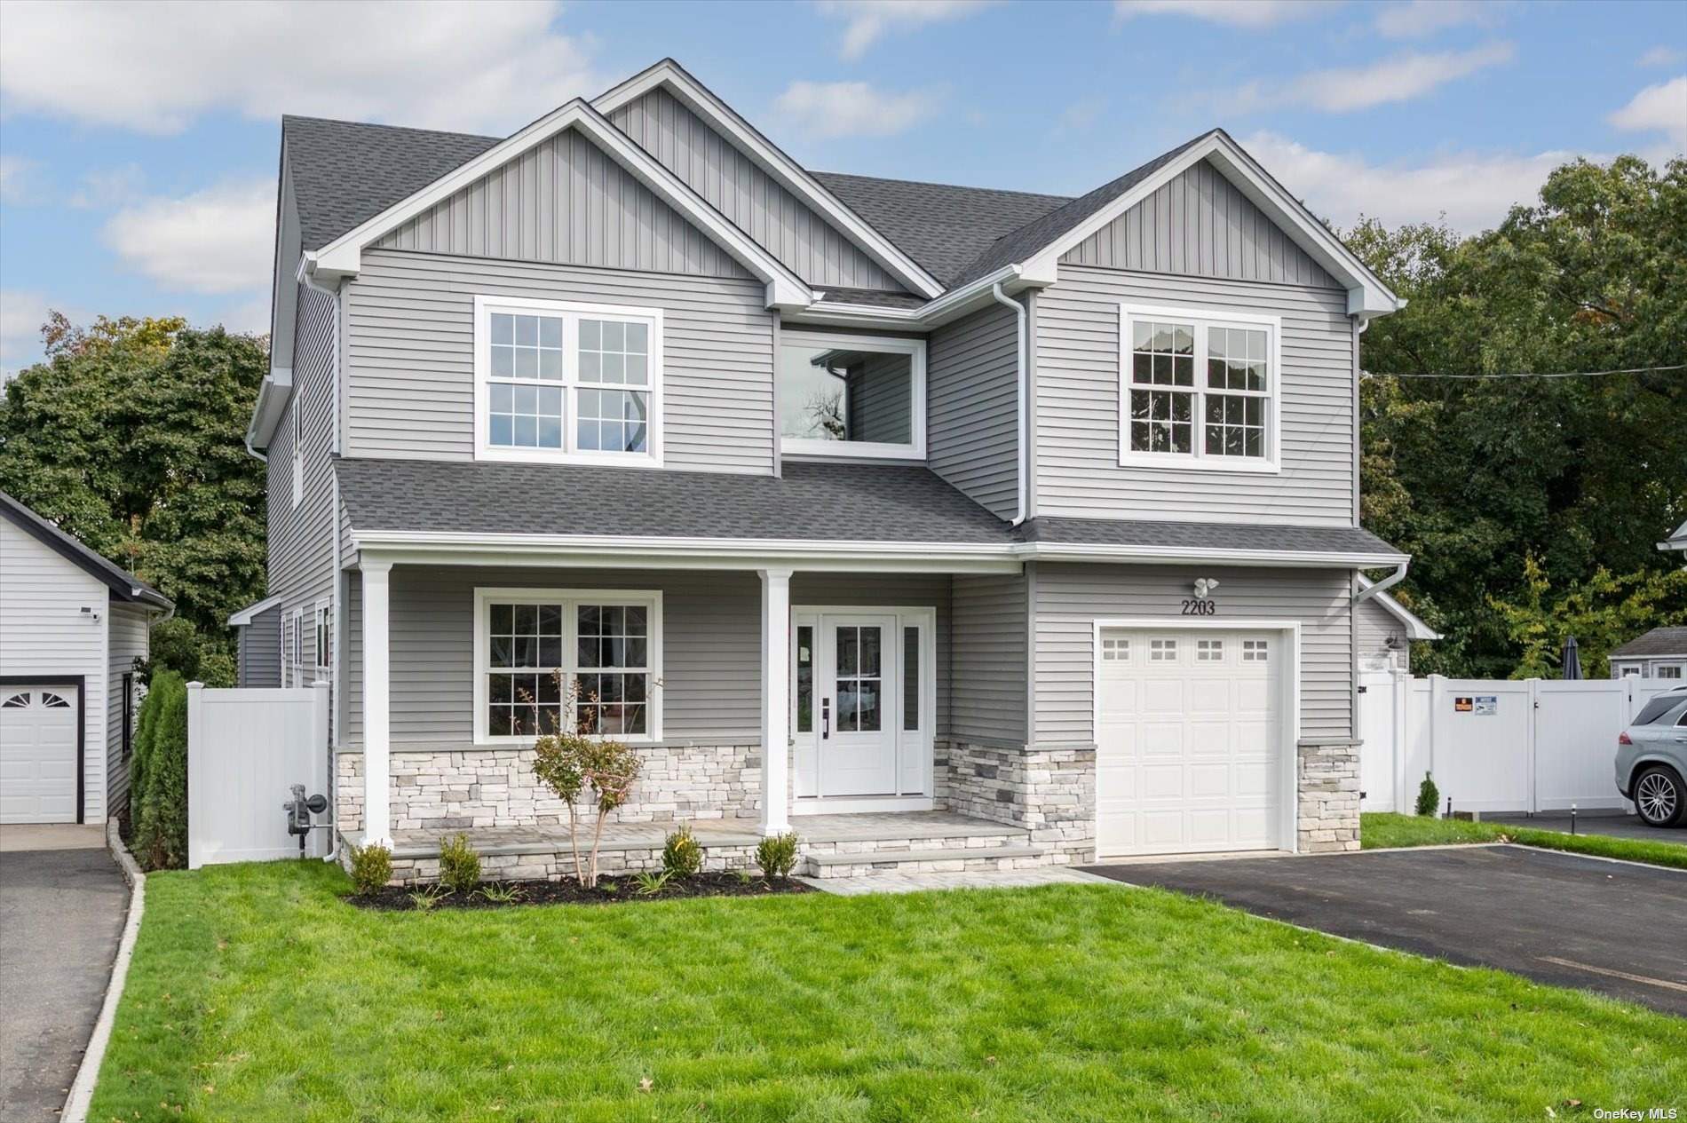
<instances>
[{"instance_id":1,"label":"black asphalt driveway in front of the 2203 garage","mask_svg":"<svg viewBox=\"0 0 1687 1123\"><path fill-rule=\"evenodd\" d=\"M1687 1017L1687 873L1527 846L1088 867Z\"/></svg>"}]
</instances>

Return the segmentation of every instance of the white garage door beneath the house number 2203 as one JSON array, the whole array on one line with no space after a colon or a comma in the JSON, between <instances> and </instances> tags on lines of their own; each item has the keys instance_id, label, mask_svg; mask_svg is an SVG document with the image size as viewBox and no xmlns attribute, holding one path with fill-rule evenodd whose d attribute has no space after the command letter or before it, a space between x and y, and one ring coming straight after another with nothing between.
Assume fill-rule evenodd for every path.
<instances>
[{"instance_id":1,"label":"white garage door beneath the house number 2203","mask_svg":"<svg viewBox=\"0 0 1687 1123\"><path fill-rule=\"evenodd\" d=\"M1102 632L1100 857L1282 845L1284 659L1279 632Z\"/></svg>"}]
</instances>

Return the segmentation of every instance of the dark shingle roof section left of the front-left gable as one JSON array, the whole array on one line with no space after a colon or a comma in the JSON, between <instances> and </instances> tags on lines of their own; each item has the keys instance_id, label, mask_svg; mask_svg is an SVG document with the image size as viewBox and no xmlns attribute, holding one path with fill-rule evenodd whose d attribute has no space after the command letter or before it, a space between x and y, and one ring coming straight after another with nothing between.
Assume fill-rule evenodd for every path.
<instances>
[{"instance_id":1,"label":"dark shingle roof section left of the front-left gable","mask_svg":"<svg viewBox=\"0 0 1687 1123\"><path fill-rule=\"evenodd\" d=\"M305 250L321 250L501 142L501 137L283 116L282 143Z\"/></svg>"}]
</instances>

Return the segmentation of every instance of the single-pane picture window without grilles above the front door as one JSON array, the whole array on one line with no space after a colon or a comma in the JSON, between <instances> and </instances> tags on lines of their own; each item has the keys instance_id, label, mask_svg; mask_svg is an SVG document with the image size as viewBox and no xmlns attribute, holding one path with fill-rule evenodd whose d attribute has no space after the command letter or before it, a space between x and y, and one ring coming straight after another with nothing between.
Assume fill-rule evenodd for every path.
<instances>
[{"instance_id":1,"label":"single-pane picture window without grilles above the front door","mask_svg":"<svg viewBox=\"0 0 1687 1123\"><path fill-rule=\"evenodd\" d=\"M788 330L776 393L783 452L926 455L924 341Z\"/></svg>"}]
</instances>

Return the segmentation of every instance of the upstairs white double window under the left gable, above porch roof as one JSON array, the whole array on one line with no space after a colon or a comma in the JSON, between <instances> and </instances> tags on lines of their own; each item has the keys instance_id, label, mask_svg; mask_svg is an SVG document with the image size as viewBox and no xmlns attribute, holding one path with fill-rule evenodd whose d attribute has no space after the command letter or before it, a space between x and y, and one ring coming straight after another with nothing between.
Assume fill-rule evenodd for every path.
<instances>
[{"instance_id":1,"label":"upstairs white double window under the left gable, above porch roof","mask_svg":"<svg viewBox=\"0 0 1687 1123\"><path fill-rule=\"evenodd\" d=\"M484 460L661 464L661 310L474 298Z\"/></svg>"}]
</instances>

